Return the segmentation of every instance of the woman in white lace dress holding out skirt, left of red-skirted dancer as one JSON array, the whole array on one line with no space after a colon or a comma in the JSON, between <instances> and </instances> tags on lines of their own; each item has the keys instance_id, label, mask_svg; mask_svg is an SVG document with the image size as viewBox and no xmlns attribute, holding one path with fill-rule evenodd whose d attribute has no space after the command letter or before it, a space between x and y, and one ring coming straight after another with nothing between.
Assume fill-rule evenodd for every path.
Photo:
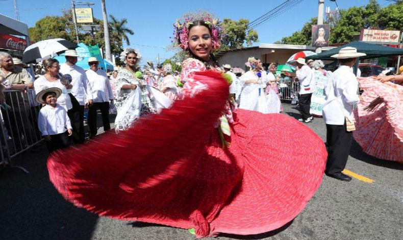
<instances>
[{"instance_id":1,"label":"woman in white lace dress holding out skirt, left of red-skirted dancer","mask_svg":"<svg viewBox=\"0 0 403 240\"><path fill-rule=\"evenodd\" d=\"M130 128L140 116L158 113L172 103L162 92L147 85L137 66L140 58L139 51L134 49L126 49L120 54L126 65L119 69L115 80L116 132Z\"/></svg>"}]
</instances>

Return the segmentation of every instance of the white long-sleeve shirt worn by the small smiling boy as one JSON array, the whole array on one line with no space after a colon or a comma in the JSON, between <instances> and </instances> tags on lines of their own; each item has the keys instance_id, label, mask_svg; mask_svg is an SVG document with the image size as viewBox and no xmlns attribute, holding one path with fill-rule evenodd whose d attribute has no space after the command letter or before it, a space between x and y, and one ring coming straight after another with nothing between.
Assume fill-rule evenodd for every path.
<instances>
[{"instance_id":1,"label":"white long-sleeve shirt worn by the small smiling boy","mask_svg":"<svg viewBox=\"0 0 403 240\"><path fill-rule=\"evenodd\" d=\"M66 110L59 104L55 108L51 105L45 105L39 111L38 127L42 136L56 135L71 129L71 123Z\"/></svg>"}]
</instances>

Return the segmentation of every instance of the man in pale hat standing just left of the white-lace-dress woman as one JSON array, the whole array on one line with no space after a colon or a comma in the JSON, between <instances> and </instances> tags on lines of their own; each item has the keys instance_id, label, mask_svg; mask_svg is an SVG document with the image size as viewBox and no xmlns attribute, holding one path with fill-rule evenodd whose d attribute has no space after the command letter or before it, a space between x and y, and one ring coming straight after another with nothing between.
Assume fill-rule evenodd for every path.
<instances>
[{"instance_id":1,"label":"man in pale hat standing just left of the white-lace-dress woman","mask_svg":"<svg viewBox=\"0 0 403 240\"><path fill-rule=\"evenodd\" d=\"M90 138L96 136L96 111L102 114L104 131L111 129L109 123L109 101L113 101L112 88L109 78L104 70L98 69L98 60L89 58L90 69L86 72L88 83L91 86L92 105L88 108L88 127L90 128Z\"/></svg>"}]
</instances>

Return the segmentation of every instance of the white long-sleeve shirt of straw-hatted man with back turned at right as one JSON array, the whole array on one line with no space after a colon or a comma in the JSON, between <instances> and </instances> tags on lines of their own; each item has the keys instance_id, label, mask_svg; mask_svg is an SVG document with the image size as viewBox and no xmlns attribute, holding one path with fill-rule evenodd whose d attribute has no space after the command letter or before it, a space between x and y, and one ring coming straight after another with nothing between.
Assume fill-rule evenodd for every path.
<instances>
[{"instance_id":1,"label":"white long-sleeve shirt of straw-hatted man with back turned at right","mask_svg":"<svg viewBox=\"0 0 403 240\"><path fill-rule=\"evenodd\" d=\"M324 89L323 119L326 124L344 125L345 116L352 120L352 107L360 99L357 95L358 81L349 66L341 65L333 80Z\"/></svg>"}]
</instances>

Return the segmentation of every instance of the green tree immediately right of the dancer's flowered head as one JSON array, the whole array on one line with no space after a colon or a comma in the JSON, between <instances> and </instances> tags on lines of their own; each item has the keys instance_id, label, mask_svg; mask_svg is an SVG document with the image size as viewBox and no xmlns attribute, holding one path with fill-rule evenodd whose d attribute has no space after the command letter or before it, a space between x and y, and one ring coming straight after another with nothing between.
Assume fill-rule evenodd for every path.
<instances>
[{"instance_id":1,"label":"green tree immediately right of the dancer's flowered head","mask_svg":"<svg viewBox=\"0 0 403 240\"><path fill-rule=\"evenodd\" d=\"M218 52L230 49L240 49L246 43L252 45L259 40L258 32L254 29L247 30L248 19L239 19L238 21L224 18L222 21L222 41Z\"/></svg>"}]
</instances>

